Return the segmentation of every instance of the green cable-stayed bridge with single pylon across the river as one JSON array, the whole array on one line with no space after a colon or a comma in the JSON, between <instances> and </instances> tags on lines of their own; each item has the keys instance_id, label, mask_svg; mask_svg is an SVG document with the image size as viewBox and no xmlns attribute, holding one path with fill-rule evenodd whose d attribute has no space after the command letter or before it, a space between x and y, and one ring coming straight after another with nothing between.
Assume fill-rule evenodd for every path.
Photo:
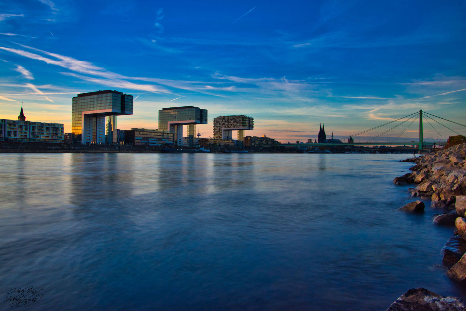
<instances>
[{"instance_id":1,"label":"green cable-stayed bridge with single pylon across the river","mask_svg":"<svg viewBox=\"0 0 466 311\"><path fill-rule=\"evenodd\" d=\"M441 126L443 126L444 128L447 128L448 130L452 131L453 133L456 133L458 135L463 135L463 134L460 134L458 133L457 131L453 130L452 128L449 128L447 127L446 125L444 125L442 122L440 121L437 121L436 119L441 119L441 120L444 120L444 121L448 121L448 122L451 122L451 123L454 123L454 124L457 124L457 125L460 125L464 128L466 128L466 125L463 125L463 124L460 124L458 122L454 122L454 121L451 121L451 120L447 120L447 119L444 119L442 117L439 117L437 115L432 115L428 112L423 112L422 109L419 110L419 111L416 111L414 113L412 113L411 115L405 115L404 117L401 117L397 120L393 120L391 122L387 122L385 124L382 124L382 125L379 125L375 128L370 128L368 130L365 130L365 131L362 131L362 132L359 132L359 133L356 133L355 135L352 135L353 138L354 137L357 137L358 135L362 135L362 134L365 134L365 133L368 133L370 131L374 131L378 128L383 128L384 126L387 126L389 124L391 124L391 128L385 130L384 132L370 138L368 141L366 142L344 142L345 140L348 141L349 137L344 137L342 138L340 141L341 142L321 142L321 143L286 143L286 144L280 144L279 147L304 147L304 146L311 146L311 147L319 147L319 146L376 146L376 145L384 145L384 146L400 146L400 145L408 145L408 146L418 146L418 149L419 150L423 150L424 148L427 148L427 149L431 149L434 145L443 145L444 143L443 142L424 142L424 126L423 126L423 120L425 120L427 123L429 123L429 125L435 130L435 132L437 132L437 134L439 134L439 136L442 136L440 135L439 131L433 126L433 124L440 124ZM419 122L419 139L417 142L397 142L397 139L401 137L401 135L403 135L403 133L414 123L418 120ZM432 121L432 123L431 123ZM398 122L398 123L396 123ZM395 123L395 125L393 126L393 123ZM406 127L401 127L403 128L403 130L400 132L399 135L397 135L397 137L395 139L393 139L392 142L377 142L377 138L381 137L382 135L385 135L389 132L391 132L392 130L394 130L395 128L398 128L399 126L403 125L403 124L407 124ZM436 124L436 126L438 126Z\"/></svg>"}]
</instances>

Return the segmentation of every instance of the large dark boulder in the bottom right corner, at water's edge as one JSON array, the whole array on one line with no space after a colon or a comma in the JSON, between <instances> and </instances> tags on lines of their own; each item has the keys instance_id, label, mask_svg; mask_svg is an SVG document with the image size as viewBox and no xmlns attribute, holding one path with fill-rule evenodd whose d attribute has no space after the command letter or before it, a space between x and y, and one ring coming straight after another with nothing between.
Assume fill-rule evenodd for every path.
<instances>
[{"instance_id":1,"label":"large dark boulder in the bottom right corner, at water's edge","mask_svg":"<svg viewBox=\"0 0 466 311\"><path fill-rule=\"evenodd\" d=\"M405 292L386 311L464 311L465 308L464 300L418 287Z\"/></svg>"}]
</instances>

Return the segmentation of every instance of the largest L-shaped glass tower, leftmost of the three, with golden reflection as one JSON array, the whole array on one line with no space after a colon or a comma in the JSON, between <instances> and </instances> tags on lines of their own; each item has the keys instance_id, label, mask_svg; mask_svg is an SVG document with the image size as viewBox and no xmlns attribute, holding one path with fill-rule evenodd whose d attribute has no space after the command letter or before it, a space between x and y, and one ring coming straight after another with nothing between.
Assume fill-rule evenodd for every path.
<instances>
[{"instance_id":1,"label":"largest L-shaped glass tower, leftmost of the three, with golden reflection","mask_svg":"<svg viewBox=\"0 0 466 311\"><path fill-rule=\"evenodd\" d=\"M133 95L105 90L73 97L71 132L82 144L117 144L117 116L133 114Z\"/></svg>"}]
</instances>

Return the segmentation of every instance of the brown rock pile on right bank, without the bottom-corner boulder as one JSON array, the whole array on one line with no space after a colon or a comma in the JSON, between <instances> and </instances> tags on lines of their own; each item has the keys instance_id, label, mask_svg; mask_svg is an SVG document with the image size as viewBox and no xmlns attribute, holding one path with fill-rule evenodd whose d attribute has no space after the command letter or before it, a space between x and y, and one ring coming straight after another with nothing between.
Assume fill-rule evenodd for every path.
<instances>
[{"instance_id":1,"label":"brown rock pile on right bank, without the bottom-corner boulder","mask_svg":"<svg viewBox=\"0 0 466 311\"><path fill-rule=\"evenodd\" d=\"M462 143L435 154L406 159L405 162L416 162L410 168L412 173L396 177L393 183L417 184L409 188L411 196L431 198L434 209L447 210L437 214L434 224L454 225L455 237L452 237L444 249L443 263L450 268L446 273L452 279L466 280L466 143ZM414 211L420 201L411 202L400 210ZM411 207L411 209L410 209ZM419 209L419 207L418 207ZM457 240L457 247L451 241ZM449 244L450 243L450 244ZM466 281L465 281L466 282Z\"/></svg>"}]
</instances>

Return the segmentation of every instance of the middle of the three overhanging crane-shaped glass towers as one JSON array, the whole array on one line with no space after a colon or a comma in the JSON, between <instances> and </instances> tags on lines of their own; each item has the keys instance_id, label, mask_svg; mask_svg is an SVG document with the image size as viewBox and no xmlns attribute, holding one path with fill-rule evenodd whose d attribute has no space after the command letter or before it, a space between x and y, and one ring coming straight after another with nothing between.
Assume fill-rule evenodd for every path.
<instances>
[{"instance_id":1,"label":"middle of the three overhanging crane-shaped glass towers","mask_svg":"<svg viewBox=\"0 0 466 311\"><path fill-rule=\"evenodd\" d=\"M188 125L189 146L194 146L196 124L207 124L207 109L183 106L158 110L158 129L173 133L177 146L183 146L183 125Z\"/></svg>"}]
</instances>

